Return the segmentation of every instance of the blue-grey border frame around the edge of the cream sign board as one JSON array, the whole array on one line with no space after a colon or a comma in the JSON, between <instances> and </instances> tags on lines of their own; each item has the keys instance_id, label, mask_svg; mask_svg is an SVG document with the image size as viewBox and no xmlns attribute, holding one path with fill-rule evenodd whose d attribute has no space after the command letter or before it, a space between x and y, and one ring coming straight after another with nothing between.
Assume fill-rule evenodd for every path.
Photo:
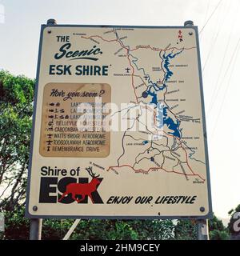
<instances>
[{"instance_id":1,"label":"blue-grey border frame around the edge of the cream sign board","mask_svg":"<svg viewBox=\"0 0 240 256\"><path fill-rule=\"evenodd\" d=\"M203 138L204 138L204 147L205 147L205 158L206 158L206 180L207 180L207 194L208 194L208 202L209 202L209 211L205 215L199 216L83 216L83 215L39 215L39 214L30 214L29 206L30 206L30 180L31 180L31 166L32 166L32 158L33 158L33 148L34 148L34 130L35 130L35 118L36 118L36 108L38 101L38 81L39 81L39 73L40 73L40 64L41 64L41 55L42 55L42 41L43 41L43 31L52 27L101 27L101 28L150 28L150 29L186 29L186 27L190 27L195 31L196 34L196 46L197 46L197 54L198 54L198 75L199 75L199 86L200 86L200 96L201 96L201 104L202 104L202 129L203 129ZM37 206L34 206L37 207ZM37 208L38 209L38 208ZM28 167L28 177L27 177L27 188L26 188L26 218L83 218L83 219L209 219L213 218L213 210L212 210L212 198L211 198L211 189L210 189L210 167L209 167L209 155L208 155L208 147L207 147L207 139L206 139L206 114L204 107L204 97L203 97L203 86L202 86L202 67L201 67L201 58L200 58L200 50L199 50L199 38L198 38L198 26L121 26L121 25L64 25L64 24L43 24L41 26L40 31L40 40L38 46L38 65L37 65L37 75L36 75L36 83L34 89L34 113L33 113L33 126L31 130L31 140L30 140L30 161Z\"/></svg>"}]
</instances>

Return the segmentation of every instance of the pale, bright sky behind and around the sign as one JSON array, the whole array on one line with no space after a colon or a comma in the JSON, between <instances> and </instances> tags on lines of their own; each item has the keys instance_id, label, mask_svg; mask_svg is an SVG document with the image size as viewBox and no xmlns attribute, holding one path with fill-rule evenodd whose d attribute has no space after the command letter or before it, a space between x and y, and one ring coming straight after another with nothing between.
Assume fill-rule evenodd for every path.
<instances>
[{"instance_id":1,"label":"pale, bright sky behind and around the sign","mask_svg":"<svg viewBox=\"0 0 240 256\"><path fill-rule=\"evenodd\" d=\"M40 25L49 18L59 24L146 26L182 26L191 19L199 30L206 24L200 47L212 197L214 212L226 218L240 203L239 5L238 0L0 0L0 68L35 77Z\"/></svg>"}]
</instances>

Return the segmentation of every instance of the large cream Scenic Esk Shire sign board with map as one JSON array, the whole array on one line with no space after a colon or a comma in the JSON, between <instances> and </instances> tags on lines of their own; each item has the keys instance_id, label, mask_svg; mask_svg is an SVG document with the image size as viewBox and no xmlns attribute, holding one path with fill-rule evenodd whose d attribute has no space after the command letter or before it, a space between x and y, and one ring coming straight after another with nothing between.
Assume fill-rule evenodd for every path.
<instances>
[{"instance_id":1,"label":"large cream Scenic Esk Shire sign board with map","mask_svg":"<svg viewBox=\"0 0 240 256\"><path fill-rule=\"evenodd\" d=\"M41 30L29 218L210 218L195 26Z\"/></svg>"}]
</instances>

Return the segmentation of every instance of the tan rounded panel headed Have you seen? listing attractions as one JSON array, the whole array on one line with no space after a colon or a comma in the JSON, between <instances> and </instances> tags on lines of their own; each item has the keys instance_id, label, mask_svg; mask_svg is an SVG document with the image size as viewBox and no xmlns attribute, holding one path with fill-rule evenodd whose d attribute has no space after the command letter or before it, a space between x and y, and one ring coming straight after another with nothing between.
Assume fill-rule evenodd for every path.
<instances>
[{"instance_id":1,"label":"tan rounded panel headed Have you seen? listing attractions","mask_svg":"<svg viewBox=\"0 0 240 256\"><path fill-rule=\"evenodd\" d=\"M108 84L49 83L44 87L40 154L45 157L106 157L104 129ZM105 113L103 113L105 112Z\"/></svg>"}]
</instances>

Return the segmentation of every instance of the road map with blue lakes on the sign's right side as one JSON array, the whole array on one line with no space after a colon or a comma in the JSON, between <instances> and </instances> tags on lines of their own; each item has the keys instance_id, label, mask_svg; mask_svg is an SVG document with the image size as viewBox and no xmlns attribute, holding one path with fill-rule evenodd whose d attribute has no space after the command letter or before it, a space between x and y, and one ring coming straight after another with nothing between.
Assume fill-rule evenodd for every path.
<instances>
[{"instance_id":1,"label":"road map with blue lakes on the sign's right side","mask_svg":"<svg viewBox=\"0 0 240 256\"><path fill-rule=\"evenodd\" d=\"M98 46L113 49L112 57L118 62L118 70L113 75L119 80L122 78L121 90L131 95L130 102L154 104L156 120L158 114L163 114L163 122L159 122L163 128L159 142L154 132L150 133L151 140L149 133L131 134L130 129L125 130L119 142L122 150L116 165L108 166L107 170L121 171L127 167L144 174L163 170L184 175L186 180L194 178L196 182L205 182L200 88L198 80L192 80L194 72L198 79L198 65L191 60L191 56L197 56L196 42L189 40L189 32L185 30L171 31L171 41L163 39L161 34L148 37L144 31L151 42L145 45L140 44L141 39L136 38L139 34L135 32L134 29L113 29L82 36L82 39L94 40ZM138 118L133 122L138 122Z\"/></svg>"}]
</instances>

